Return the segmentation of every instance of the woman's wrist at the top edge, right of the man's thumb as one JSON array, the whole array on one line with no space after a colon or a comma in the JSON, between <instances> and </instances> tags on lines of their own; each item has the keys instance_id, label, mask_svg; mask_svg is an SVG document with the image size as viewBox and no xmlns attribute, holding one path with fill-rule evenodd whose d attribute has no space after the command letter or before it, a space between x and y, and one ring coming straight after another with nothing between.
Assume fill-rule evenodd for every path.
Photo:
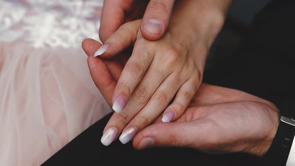
<instances>
[{"instance_id":1,"label":"woman's wrist at the top edge, right of the man's thumb","mask_svg":"<svg viewBox=\"0 0 295 166\"><path fill-rule=\"evenodd\" d=\"M187 42L189 48L193 48L195 43L202 42L206 49L209 49L224 24L231 1L176 1L169 31L173 35L179 35L179 31L181 31L178 38Z\"/></svg>"}]
</instances>

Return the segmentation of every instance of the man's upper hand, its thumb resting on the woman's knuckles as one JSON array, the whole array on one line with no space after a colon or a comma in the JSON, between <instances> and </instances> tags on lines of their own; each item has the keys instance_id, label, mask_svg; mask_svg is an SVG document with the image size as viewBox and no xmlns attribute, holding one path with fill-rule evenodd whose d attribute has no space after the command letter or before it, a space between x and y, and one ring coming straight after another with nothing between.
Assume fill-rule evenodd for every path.
<instances>
[{"instance_id":1,"label":"man's upper hand, its thumb resting on the woman's knuckles","mask_svg":"<svg viewBox=\"0 0 295 166\"><path fill-rule=\"evenodd\" d=\"M165 33L175 0L104 0L99 36L104 42L123 23L142 18L143 37L157 40ZM145 12L144 12L145 11Z\"/></svg>"}]
</instances>

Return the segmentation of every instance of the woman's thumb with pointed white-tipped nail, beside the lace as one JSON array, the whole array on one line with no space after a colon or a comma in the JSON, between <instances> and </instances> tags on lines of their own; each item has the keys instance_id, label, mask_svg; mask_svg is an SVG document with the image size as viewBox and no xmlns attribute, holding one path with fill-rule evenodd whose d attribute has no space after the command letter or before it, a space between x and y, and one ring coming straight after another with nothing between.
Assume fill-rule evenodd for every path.
<instances>
[{"instance_id":1,"label":"woman's thumb with pointed white-tipped nail, beside the lace","mask_svg":"<svg viewBox=\"0 0 295 166\"><path fill-rule=\"evenodd\" d=\"M104 42L104 45L96 50L94 57L111 58L124 49L134 44L141 19L122 24Z\"/></svg>"}]
</instances>

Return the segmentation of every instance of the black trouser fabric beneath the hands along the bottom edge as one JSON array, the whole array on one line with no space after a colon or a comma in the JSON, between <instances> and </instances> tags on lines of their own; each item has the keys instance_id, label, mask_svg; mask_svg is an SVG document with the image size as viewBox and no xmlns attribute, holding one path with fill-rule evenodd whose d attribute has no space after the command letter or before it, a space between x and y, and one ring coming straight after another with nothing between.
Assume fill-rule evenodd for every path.
<instances>
[{"instance_id":1,"label":"black trouser fabric beneath the hands along the bottom edge","mask_svg":"<svg viewBox=\"0 0 295 166\"><path fill-rule=\"evenodd\" d=\"M111 114L90 126L54 154L43 165L249 165L256 157L247 154L208 155L189 148L134 150L132 143L118 140L100 143ZM232 159L234 158L234 159ZM245 162L247 161L247 162ZM197 164L193 164L197 163ZM247 163L247 164L246 164ZM252 164L250 164L252 165Z\"/></svg>"}]
</instances>

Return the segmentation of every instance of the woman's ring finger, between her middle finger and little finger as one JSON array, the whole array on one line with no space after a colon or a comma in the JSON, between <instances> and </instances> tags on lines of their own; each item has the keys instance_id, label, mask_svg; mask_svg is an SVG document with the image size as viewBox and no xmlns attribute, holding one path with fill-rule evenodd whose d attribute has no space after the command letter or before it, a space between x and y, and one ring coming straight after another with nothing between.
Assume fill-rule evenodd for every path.
<instances>
[{"instance_id":1,"label":"woman's ring finger, between her middle finger and little finger","mask_svg":"<svg viewBox=\"0 0 295 166\"><path fill-rule=\"evenodd\" d=\"M176 80L177 77L175 75L169 75L161 83L144 107L126 125L119 137L122 143L127 143L133 138L132 134L127 134L130 133L129 130L134 132L142 130L166 108L182 83Z\"/></svg>"}]
</instances>

